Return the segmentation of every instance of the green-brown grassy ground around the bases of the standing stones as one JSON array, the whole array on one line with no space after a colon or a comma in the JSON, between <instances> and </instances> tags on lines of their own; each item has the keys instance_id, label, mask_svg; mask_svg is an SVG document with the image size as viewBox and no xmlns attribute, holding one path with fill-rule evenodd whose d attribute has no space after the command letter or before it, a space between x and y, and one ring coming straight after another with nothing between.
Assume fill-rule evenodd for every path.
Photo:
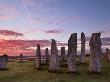
<instances>
[{"instance_id":1,"label":"green-brown grassy ground around the bases of the standing stones","mask_svg":"<svg viewBox=\"0 0 110 82\"><path fill-rule=\"evenodd\" d=\"M66 67L62 70L64 73L48 73L48 67L44 70L36 70L34 62L9 62L9 70L0 71L0 82L110 82L110 63L103 62L101 74L88 74L88 63L78 65L80 74L66 74Z\"/></svg>"}]
</instances>

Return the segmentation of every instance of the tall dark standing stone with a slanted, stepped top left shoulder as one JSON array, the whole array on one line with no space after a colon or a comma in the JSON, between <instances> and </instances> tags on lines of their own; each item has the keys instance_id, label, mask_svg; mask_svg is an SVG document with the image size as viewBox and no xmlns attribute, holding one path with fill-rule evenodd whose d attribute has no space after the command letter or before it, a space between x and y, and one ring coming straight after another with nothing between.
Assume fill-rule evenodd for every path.
<instances>
[{"instance_id":1,"label":"tall dark standing stone with a slanted, stepped top left shoulder","mask_svg":"<svg viewBox=\"0 0 110 82\"><path fill-rule=\"evenodd\" d=\"M76 72L77 33L71 34L68 40L68 73Z\"/></svg>"}]
</instances>

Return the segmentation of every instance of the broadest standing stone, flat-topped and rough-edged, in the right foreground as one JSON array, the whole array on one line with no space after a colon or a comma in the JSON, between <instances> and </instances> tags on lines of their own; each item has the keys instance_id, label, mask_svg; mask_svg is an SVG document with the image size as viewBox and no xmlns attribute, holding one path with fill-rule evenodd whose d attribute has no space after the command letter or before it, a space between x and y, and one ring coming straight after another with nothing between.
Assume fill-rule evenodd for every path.
<instances>
[{"instance_id":1,"label":"broadest standing stone, flat-topped and rough-edged, in the right foreground","mask_svg":"<svg viewBox=\"0 0 110 82\"><path fill-rule=\"evenodd\" d=\"M101 33L93 33L92 37L89 42L90 46L90 66L89 66L89 72L92 73L99 73L101 72L102 66L101 66L101 39L100 39Z\"/></svg>"}]
</instances>

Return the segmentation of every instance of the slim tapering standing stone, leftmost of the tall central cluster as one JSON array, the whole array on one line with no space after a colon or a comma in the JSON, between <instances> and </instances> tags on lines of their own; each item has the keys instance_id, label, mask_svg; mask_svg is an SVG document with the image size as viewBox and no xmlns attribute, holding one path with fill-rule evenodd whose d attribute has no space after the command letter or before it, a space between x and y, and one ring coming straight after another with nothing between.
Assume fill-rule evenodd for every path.
<instances>
[{"instance_id":1,"label":"slim tapering standing stone, leftmost of the tall central cluster","mask_svg":"<svg viewBox=\"0 0 110 82\"><path fill-rule=\"evenodd\" d=\"M41 50L39 44L37 44L37 51L36 51L36 68L41 69Z\"/></svg>"}]
</instances>

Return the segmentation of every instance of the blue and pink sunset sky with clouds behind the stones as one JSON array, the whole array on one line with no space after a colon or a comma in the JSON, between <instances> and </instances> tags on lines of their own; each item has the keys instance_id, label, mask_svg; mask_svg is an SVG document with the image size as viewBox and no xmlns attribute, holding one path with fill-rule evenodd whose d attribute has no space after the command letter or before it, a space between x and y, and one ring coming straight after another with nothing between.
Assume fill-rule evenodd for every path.
<instances>
[{"instance_id":1,"label":"blue and pink sunset sky with clouds behind the stones","mask_svg":"<svg viewBox=\"0 0 110 82\"><path fill-rule=\"evenodd\" d=\"M34 55L37 44L44 51L51 39L67 50L75 32L78 51L81 32L87 38L101 32L103 49L110 48L110 0L0 0L0 54Z\"/></svg>"}]
</instances>

